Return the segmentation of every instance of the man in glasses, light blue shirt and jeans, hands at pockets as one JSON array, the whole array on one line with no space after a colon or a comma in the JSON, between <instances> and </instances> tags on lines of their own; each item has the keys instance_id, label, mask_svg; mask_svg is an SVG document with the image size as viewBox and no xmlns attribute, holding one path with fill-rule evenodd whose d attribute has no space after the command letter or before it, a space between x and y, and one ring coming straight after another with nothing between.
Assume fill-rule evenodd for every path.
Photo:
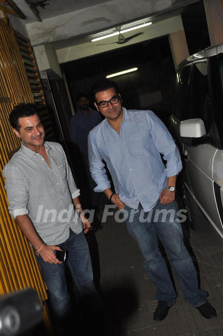
<instances>
[{"instance_id":1,"label":"man in glasses, light blue shirt and jeans, hands at pockets","mask_svg":"<svg viewBox=\"0 0 223 336\"><path fill-rule=\"evenodd\" d=\"M97 184L94 191L104 191L112 203L127 213L127 229L157 287L155 298L159 301L153 319L163 320L177 296L157 236L170 256L185 300L204 317L216 317L207 302L207 293L198 288L194 264L183 244L175 201L175 183L182 164L173 138L153 112L123 108L115 82L102 80L94 84L92 94L95 107L105 117L88 136L90 171ZM102 160L112 175L116 193L110 189ZM141 210L145 211L143 218ZM166 216L160 218L159 213ZM172 213L173 218L167 213Z\"/></svg>"}]
</instances>

